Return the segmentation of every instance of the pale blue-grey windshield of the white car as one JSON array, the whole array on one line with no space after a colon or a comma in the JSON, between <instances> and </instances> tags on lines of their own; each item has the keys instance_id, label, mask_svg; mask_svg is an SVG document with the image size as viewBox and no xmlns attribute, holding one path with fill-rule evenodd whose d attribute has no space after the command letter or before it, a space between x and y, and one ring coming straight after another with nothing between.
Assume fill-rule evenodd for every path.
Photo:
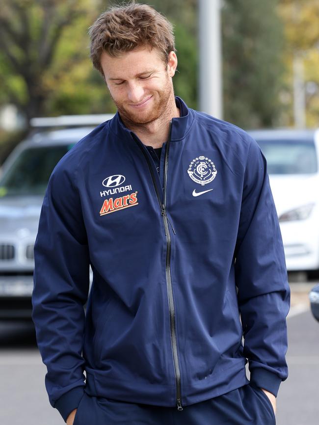
<instances>
[{"instance_id":1,"label":"pale blue-grey windshield of the white car","mask_svg":"<svg viewBox=\"0 0 319 425\"><path fill-rule=\"evenodd\" d=\"M268 174L313 174L318 171L313 141L257 140L267 160Z\"/></svg>"}]
</instances>

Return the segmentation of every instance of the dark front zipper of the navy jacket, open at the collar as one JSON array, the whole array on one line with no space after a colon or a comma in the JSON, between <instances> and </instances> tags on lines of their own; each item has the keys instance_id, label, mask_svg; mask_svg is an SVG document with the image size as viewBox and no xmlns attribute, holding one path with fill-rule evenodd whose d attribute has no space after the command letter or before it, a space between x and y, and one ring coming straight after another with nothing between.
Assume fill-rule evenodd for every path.
<instances>
[{"instance_id":1,"label":"dark front zipper of the navy jacket, open at the collar","mask_svg":"<svg viewBox=\"0 0 319 425\"><path fill-rule=\"evenodd\" d=\"M172 279L171 279L171 266L170 266L170 257L171 257L171 237L169 233L169 227L168 223L171 225L172 230L174 232L174 235L176 235L175 230L173 228L172 223L167 217L166 214L166 186L167 186L167 168L168 168L168 154L169 154L169 144L171 139L171 132L172 132L172 121L169 123L169 133L168 133L168 140L166 144L166 152L165 152L165 162L164 162L164 193L163 193L163 202L161 202L160 199L160 193L159 188L156 183L156 179L154 176L154 171L152 168L152 164L150 162L150 159L144 152L142 146L140 145L141 142L137 139L134 133L132 134L133 139L140 147L141 151L143 152L144 157L146 158L147 164L150 169L150 173L152 176L153 185L155 187L155 191L157 194L157 198L160 204L160 213L163 217L164 222L164 229L165 229L165 236L166 236L166 284L167 284L167 294L168 294L168 305L169 305L169 317L170 317L170 328L171 328L171 343L172 343L172 351L173 351L173 360L174 360L174 370L175 370L175 380L176 380L176 404L177 404L177 410L183 410L182 407L182 390L181 390L181 372L180 372L180 366L179 366L179 360L178 360L178 353L177 353L177 342L176 342L176 325L175 325L175 308L174 308L174 298L173 298L173 289L172 289Z\"/></svg>"}]
</instances>

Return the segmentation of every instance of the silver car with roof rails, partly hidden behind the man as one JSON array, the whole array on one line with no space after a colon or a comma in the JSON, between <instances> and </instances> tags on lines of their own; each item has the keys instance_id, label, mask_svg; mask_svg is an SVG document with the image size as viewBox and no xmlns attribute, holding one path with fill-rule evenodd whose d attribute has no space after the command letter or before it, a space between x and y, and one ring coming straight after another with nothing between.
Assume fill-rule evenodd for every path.
<instances>
[{"instance_id":1,"label":"silver car with roof rails, partly hidden behind the man","mask_svg":"<svg viewBox=\"0 0 319 425\"><path fill-rule=\"evenodd\" d=\"M31 317L33 245L56 163L93 127L37 133L20 143L0 175L0 319Z\"/></svg>"}]
</instances>

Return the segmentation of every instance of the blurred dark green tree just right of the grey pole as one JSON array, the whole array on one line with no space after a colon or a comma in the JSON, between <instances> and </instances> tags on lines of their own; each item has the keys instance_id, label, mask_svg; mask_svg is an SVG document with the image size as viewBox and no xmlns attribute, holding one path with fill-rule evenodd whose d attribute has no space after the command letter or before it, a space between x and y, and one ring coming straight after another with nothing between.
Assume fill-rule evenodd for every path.
<instances>
[{"instance_id":1,"label":"blurred dark green tree just right of the grey pole","mask_svg":"<svg viewBox=\"0 0 319 425\"><path fill-rule=\"evenodd\" d=\"M224 0L224 118L243 128L278 124L284 66L277 0Z\"/></svg>"}]
</instances>

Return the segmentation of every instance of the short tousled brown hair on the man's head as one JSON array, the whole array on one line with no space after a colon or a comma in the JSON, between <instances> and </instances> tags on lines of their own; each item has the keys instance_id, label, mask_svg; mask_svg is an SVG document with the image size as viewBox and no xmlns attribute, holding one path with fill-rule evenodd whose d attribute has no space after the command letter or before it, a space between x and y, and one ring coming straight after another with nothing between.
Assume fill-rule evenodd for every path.
<instances>
[{"instance_id":1,"label":"short tousled brown hair on the man's head","mask_svg":"<svg viewBox=\"0 0 319 425\"><path fill-rule=\"evenodd\" d=\"M101 54L119 56L136 47L150 46L160 50L164 61L175 52L172 24L147 4L112 6L102 13L89 28L91 60L101 72Z\"/></svg>"}]
</instances>

